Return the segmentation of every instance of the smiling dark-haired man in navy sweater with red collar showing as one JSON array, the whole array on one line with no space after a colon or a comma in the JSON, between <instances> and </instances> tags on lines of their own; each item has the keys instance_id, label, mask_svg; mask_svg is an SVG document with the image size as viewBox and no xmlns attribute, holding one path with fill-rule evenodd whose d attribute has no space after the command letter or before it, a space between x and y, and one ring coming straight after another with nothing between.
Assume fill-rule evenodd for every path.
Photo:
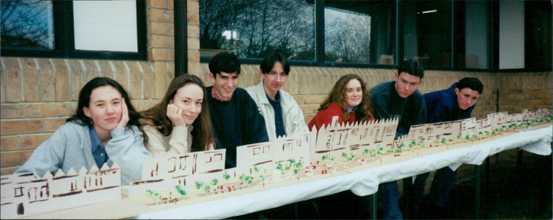
<instances>
[{"instance_id":1,"label":"smiling dark-haired man in navy sweater with red collar showing","mask_svg":"<svg viewBox=\"0 0 553 220\"><path fill-rule=\"evenodd\" d=\"M209 61L207 104L212 119L216 149L227 149L225 168L236 167L236 147L269 141L265 120L255 101L238 88L240 62L235 54L220 52Z\"/></svg>"}]
</instances>

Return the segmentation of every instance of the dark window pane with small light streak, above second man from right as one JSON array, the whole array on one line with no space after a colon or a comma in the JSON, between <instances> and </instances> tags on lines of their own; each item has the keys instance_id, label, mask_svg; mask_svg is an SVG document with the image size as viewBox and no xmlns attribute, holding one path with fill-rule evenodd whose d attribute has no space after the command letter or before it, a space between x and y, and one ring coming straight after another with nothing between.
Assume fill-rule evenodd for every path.
<instances>
[{"instance_id":1,"label":"dark window pane with small light streak, above second man from right","mask_svg":"<svg viewBox=\"0 0 553 220\"><path fill-rule=\"evenodd\" d=\"M451 67L451 1L402 1L404 57Z\"/></svg>"}]
</instances>

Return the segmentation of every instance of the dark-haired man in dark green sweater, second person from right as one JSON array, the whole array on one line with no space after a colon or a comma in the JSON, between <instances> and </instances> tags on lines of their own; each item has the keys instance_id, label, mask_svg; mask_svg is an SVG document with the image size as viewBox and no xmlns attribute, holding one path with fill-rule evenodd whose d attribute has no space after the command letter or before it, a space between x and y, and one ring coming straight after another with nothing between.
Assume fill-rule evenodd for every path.
<instances>
[{"instance_id":1,"label":"dark-haired man in dark green sweater, second person from right","mask_svg":"<svg viewBox=\"0 0 553 220\"><path fill-rule=\"evenodd\" d=\"M406 135L411 126L427 121L427 106L418 90L422 77L422 63L409 59L400 63L394 81L379 83L371 88L375 119L400 119L395 137ZM397 203L397 181L381 183L378 186L378 197L382 201L384 219L403 218Z\"/></svg>"}]
</instances>

